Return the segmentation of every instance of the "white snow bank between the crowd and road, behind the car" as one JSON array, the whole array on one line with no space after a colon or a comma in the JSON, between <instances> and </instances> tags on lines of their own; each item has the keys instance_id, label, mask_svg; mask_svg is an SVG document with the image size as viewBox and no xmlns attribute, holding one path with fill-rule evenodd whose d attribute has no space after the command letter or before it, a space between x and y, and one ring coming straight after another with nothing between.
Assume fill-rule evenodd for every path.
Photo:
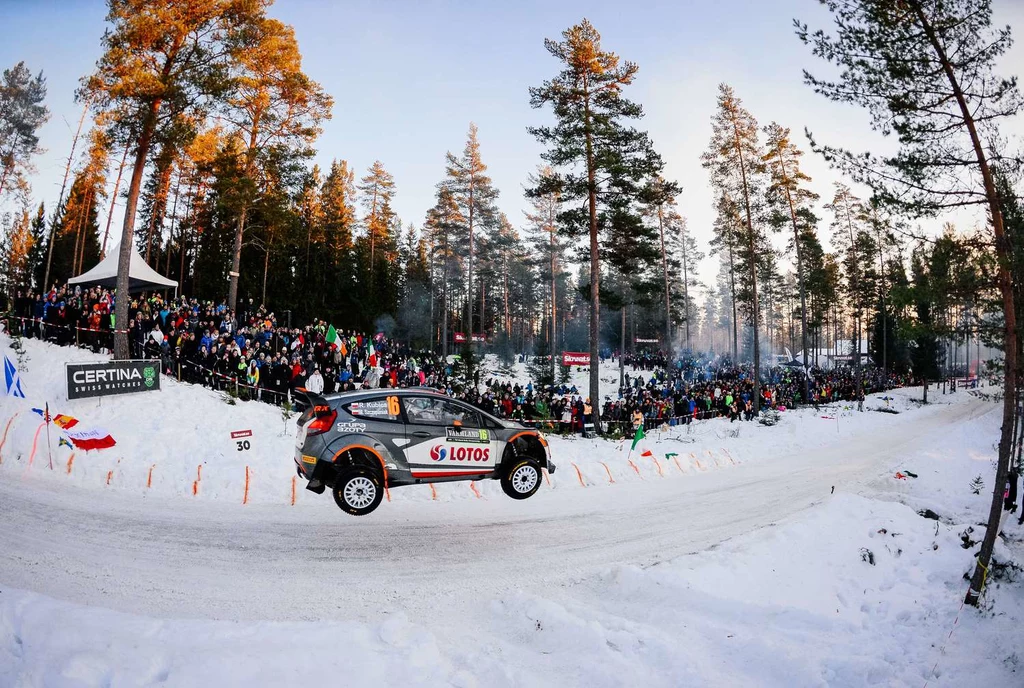
<instances>
[{"instance_id":1,"label":"white snow bank between the crowd and road, behind the car","mask_svg":"<svg viewBox=\"0 0 1024 688\"><path fill-rule=\"evenodd\" d=\"M8 341L3 340L4 344ZM5 397L0 402L0 476L60 481L97 490L114 489L156 499L224 500L242 505L265 503L288 506L315 499L304 482L293 481L295 468L294 417L259 402L231 404L224 393L163 378L161 390L94 399L68 401L65 363L90 361L101 356L71 347L56 347L24 340L27 371L22 375L27 399ZM488 361L494 365L493 361ZM606 369L606 370L605 370ZM614 365L602 369L602 380L617 381ZM513 369L516 379L525 368ZM584 373L574 373L582 380ZM500 376L499 376L500 377ZM520 380L521 381L521 380ZM911 400L920 390L897 390L888 400L876 395L869 408L891 406L902 412L928 414ZM941 398L941 397L940 397ZM75 451L59 444L59 431L40 430L42 419L31 412L49 402L52 414L73 416L87 427L111 432L117 446ZM723 419L689 426L648 431L636 451L629 440L609 442L579 436L551 436L551 451L558 467L548 476L546 488L610 488L644 480L685 479L686 475L729 469L751 461L771 461L795 451L815 451L843 436L864 428L894 427L903 418L889 414L855 414L844 404L781 414L775 427L757 423L729 423ZM239 450L230 433L250 430L248 449ZM38 432L38 435L37 435ZM35 450L33 450L35 447ZM769 450L765 450L770 447ZM642 456L649 450L652 456ZM72 456L74 454L74 457ZM51 469L52 466L52 469ZM293 491L294 483L294 491ZM248 485L248 487L247 487ZM475 488L475 489L474 489ZM480 497L477 498L477 494ZM391 492L398 501L452 501L508 499L494 481L407 486Z\"/></svg>"}]
</instances>

